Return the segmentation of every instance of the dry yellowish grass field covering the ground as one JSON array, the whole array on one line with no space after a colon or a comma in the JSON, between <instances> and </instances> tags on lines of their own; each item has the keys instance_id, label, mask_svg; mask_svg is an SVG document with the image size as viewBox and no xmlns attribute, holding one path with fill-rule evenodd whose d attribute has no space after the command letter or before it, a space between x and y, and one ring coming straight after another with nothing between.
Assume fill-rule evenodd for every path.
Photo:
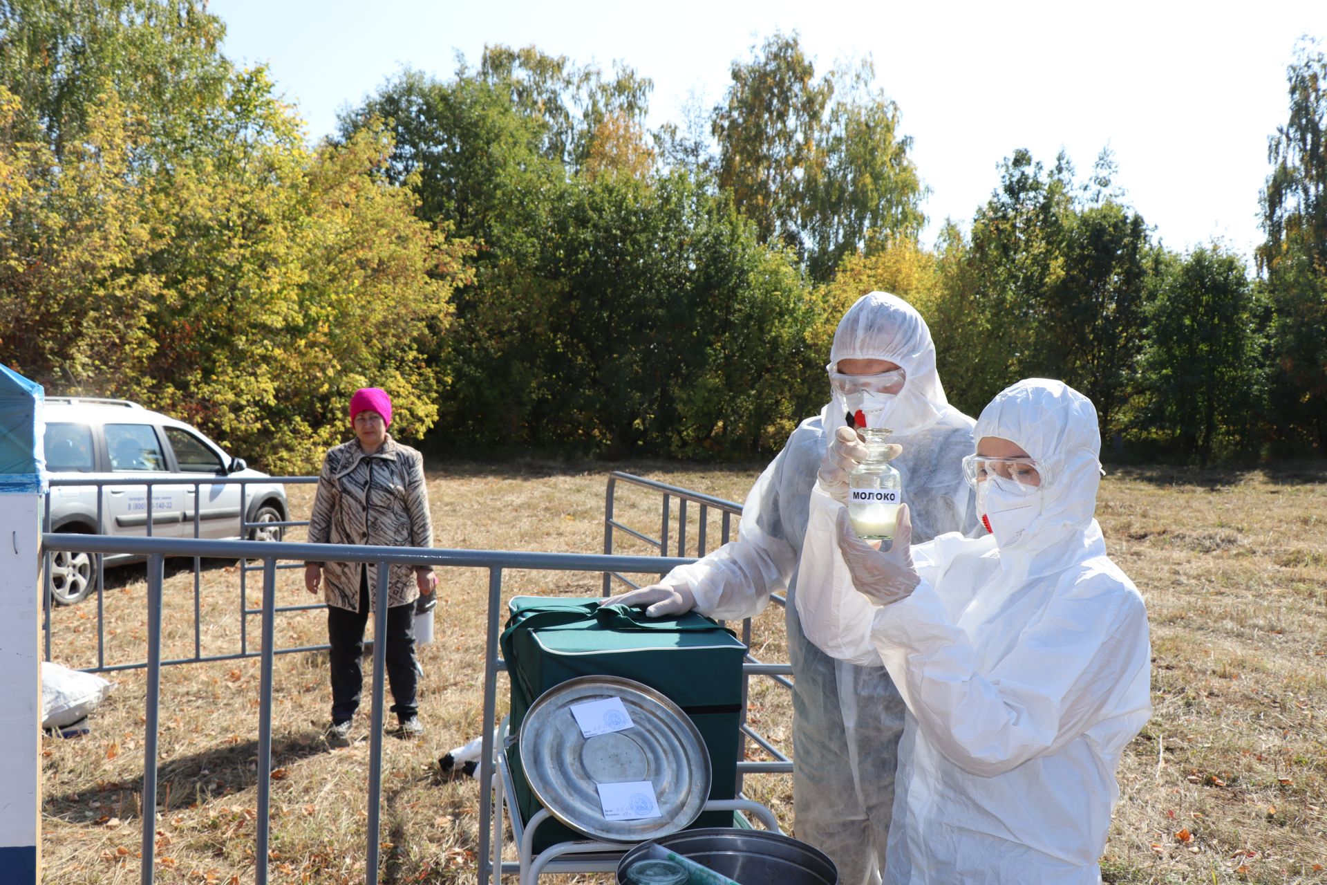
<instances>
[{"instance_id":1,"label":"dry yellowish grass field covering the ground","mask_svg":"<svg viewBox=\"0 0 1327 885\"><path fill-rule=\"evenodd\" d=\"M447 466L431 472L439 547L600 552L609 467ZM633 471L742 500L755 468L636 464ZM297 515L312 490L292 487ZM658 498L621 488L618 517L658 532ZM675 508L674 508L675 513ZM1253 471L1113 471L1099 519L1111 555L1143 590L1152 618L1156 715L1120 770L1121 797L1104 858L1108 882L1327 882L1327 466ZM695 537L691 511L690 537ZM675 529L674 529L675 531ZM295 532L292 540L301 532ZM675 537L675 535L674 535ZM710 537L718 537L718 519ZM694 548L693 548L694 549ZM617 552L646 553L620 536ZM169 563L166 657L195 641L190 563ZM234 563L204 561L198 641L203 654L239 649ZM260 602L249 575L248 604ZM515 572L512 594L597 594L597 575ZM300 572L279 575L279 602L309 601ZM110 663L145 658L143 568L111 572L105 593ZM437 760L480 734L487 576L445 572L437 641L421 649L418 740L389 738L384 759L382 881L472 882L479 784L439 776ZM280 646L318 644L324 614L284 614ZM96 604L60 609L54 658L96 662ZM249 618L248 647L259 620ZM756 621L755 654L787 659L782 613ZM372 665L366 662L366 686ZM139 880L145 675L115 689L92 734L46 739L44 881ZM273 882L364 877L368 701L354 743L322 739L330 703L324 657L276 661L271 873ZM506 681L499 710L506 707ZM171 666L162 677L157 881L253 881L259 662ZM791 747L787 694L752 683L751 719ZM792 825L791 779L747 782ZM508 852L514 856L514 852ZM609 881L564 877L563 882Z\"/></svg>"}]
</instances>

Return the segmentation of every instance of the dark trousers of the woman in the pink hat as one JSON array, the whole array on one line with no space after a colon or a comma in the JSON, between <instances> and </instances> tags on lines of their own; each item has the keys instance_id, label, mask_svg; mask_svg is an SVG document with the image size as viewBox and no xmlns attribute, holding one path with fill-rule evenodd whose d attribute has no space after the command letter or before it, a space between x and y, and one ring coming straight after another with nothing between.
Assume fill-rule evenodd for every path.
<instances>
[{"instance_id":1,"label":"dark trousers of the woman in the pink hat","mask_svg":"<svg viewBox=\"0 0 1327 885\"><path fill-rule=\"evenodd\" d=\"M328 606L328 642L332 645L332 722L346 722L360 707L364 689L364 625L369 622L369 569L360 569L360 610ZM376 641L381 642L382 637ZM391 713L402 722L418 713L415 685L419 678L414 659L414 605L387 609L387 681L391 683Z\"/></svg>"}]
</instances>

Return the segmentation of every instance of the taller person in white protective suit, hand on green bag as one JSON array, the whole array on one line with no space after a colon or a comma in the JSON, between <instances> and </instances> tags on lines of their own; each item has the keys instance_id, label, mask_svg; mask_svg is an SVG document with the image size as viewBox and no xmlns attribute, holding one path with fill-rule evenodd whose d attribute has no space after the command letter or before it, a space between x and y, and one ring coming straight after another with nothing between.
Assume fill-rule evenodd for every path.
<instances>
[{"instance_id":1,"label":"taller person in white protective suit, hand on green bag","mask_svg":"<svg viewBox=\"0 0 1327 885\"><path fill-rule=\"evenodd\" d=\"M945 398L921 314L897 296L865 295L839 322L829 357L832 402L802 422L756 480L738 540L612 602L648 605L656 617L695 608L736 620L759 614L771 593L796 598L817 472L823 486L847 499L843 467L865 455L849 419L890 427L890 439L904 446L893 466L902 475L914 537L977 528L959 466L973 447L973 419ZM824 543L824 553L833 553L833 539ZM792 604L786 618L795 674L795 831L835 861L844 885L873 885L889 832L904 703L878 661L833 661L807 642Z\"/></svg>"}]
</instances>

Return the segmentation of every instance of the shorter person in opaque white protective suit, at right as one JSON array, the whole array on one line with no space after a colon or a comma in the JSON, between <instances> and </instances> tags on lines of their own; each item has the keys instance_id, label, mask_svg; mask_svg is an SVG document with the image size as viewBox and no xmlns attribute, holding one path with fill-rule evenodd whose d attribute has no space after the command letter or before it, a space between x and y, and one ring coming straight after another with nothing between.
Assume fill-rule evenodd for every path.
<instances>
[{"instance_id":1,"label":"shorter person in opaque white protective suit, at right","mask_svg":"<svg viewBox=\"0 0 1327 885\"><path fill-rule=\"evenodd\" d=\"M1096 411L1034 378L975 435L963 467L990 535L910 547L901 511L881 552L816 490L807 545L841 555L798 606L812 642L882 662L908 705L886 882L1095 884L1115 768L1152 713L1147 610L1093 519Z\"/></svg>"}]
</instances>

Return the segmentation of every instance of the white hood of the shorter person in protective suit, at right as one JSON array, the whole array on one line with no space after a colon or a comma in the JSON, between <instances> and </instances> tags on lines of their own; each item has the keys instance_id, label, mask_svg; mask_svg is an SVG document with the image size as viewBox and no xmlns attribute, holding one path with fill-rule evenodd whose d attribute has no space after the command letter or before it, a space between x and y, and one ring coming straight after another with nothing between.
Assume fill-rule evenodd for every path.
<instances>
[{"instance_id":1,"label":"white hood of the shorter person in protective suit, at right","mask_svg":"<svg viewBox=\"0 0 1327 885\"><path fill-rule=\"evenodd\" d=\"M1044 575L1095 545L1101 536L1092 519L1101 484L1101 434L1091 399L1062 381L1019 381L982 409L973 441L981 446L983 437L1018 443L1043 467L1042 512L1016 544L1001 548L1005 568Z\"/></svg>"}]
</instances>

